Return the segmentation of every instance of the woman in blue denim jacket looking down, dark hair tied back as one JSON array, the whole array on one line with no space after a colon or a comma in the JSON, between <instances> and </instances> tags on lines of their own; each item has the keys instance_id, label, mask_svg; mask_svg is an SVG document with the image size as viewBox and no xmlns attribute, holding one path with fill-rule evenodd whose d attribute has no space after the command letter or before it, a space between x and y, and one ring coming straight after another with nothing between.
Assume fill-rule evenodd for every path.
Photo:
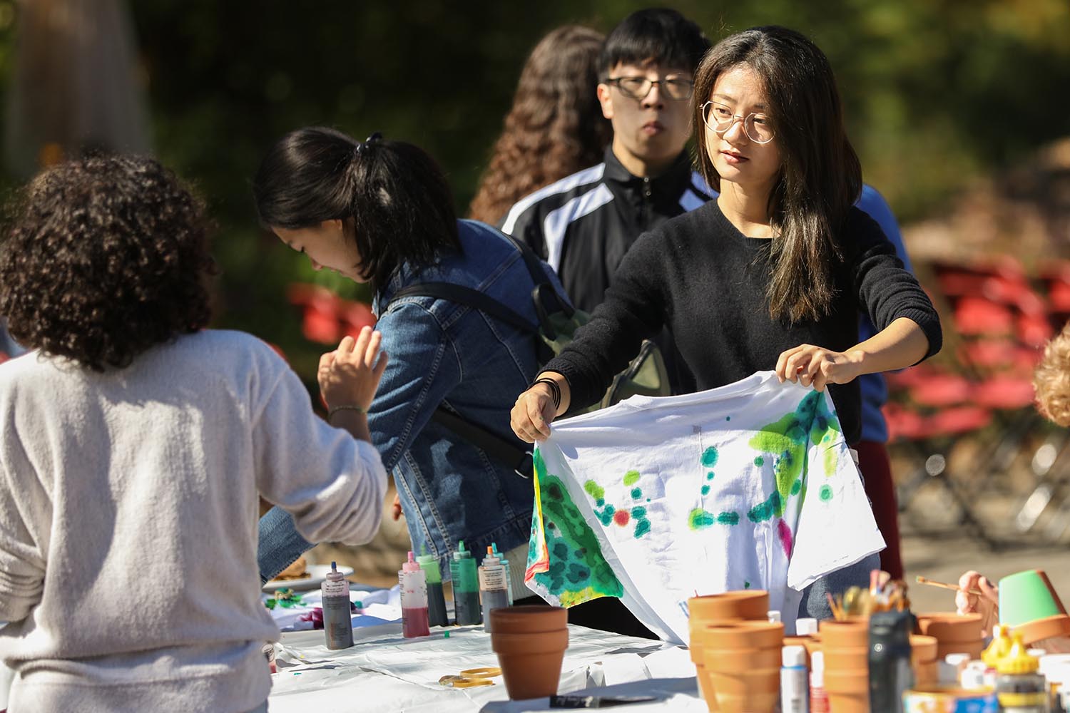
<instances>
[{"instance_id":1,"label":"woman in blue denim jacket looking down, dark hair tied back","mask_svg":"<svg viewBox=\"0 0 1070 713\"><path fill-rule=\"evenodd\" d=\"M476 557L496 543L522 576L531 480L432 416L444 407L514 438L508 414L536 371L535 338L458 303L393 299L416 283L449 282L485 293L534 325L533 283L519 250L496 230L456 218L449 186L426 153L378 134L357 142L330 128L293 131L268 153L253 189L260 222L315 268L374 289L376 328L389 361L368 423L397 483L413 548L426 546L448 572L459 541ZM260 521L261 578L314 544L289 514L272 509Z\"/></svg>"}]
</instances>

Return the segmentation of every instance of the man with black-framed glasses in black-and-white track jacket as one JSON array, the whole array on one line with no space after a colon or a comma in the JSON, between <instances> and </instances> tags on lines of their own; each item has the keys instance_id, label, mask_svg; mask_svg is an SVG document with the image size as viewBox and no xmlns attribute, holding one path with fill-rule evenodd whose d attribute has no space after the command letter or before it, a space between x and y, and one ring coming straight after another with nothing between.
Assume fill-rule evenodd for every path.
<instances>
[{"instance_id":1,"label":"man with black-framed glasses in black-and-white track jacket","mask_svg":"<svg viewBox=\"0 0 1070 713\"><path fill-rule=\"evenodd\" d=\"M605 160L517 202L502 230L524 239L557 272L580 309L602 301L639 235L710 200L686 152L692 73L709 48L674 10L642 10L606 37L597 88L613 125ZM666 350L673 386L688 376Z\"/></svg>"}]
</instances>

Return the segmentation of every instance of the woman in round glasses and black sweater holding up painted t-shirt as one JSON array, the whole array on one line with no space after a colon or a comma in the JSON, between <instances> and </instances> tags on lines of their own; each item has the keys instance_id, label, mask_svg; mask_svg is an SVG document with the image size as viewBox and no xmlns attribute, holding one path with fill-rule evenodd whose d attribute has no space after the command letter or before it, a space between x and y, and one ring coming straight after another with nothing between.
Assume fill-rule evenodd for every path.
<instances>
[{"instance_id":1,"label":"woman in round glasses and black sweater holding up painted t-shirt","mask_svg":"<svg viewBox=\"0 0 1070 713\"><path fill-rule=\"evenodd\" d=\"M855 378L939 350L929 298L853 207L861 169L813 43L780 27L720 42L696 73L693 127L700 169L720 196L631 247L591 323L517 399L511 424L524 440L596 401L626 366L617 355L666 325L700 390L770 369L828 385L849 444L861 428ZM878 329L861 343L859 307ZM828 616L825 588L868 582L870 559L819 583L804 599L808 616Z\"/></svg>"}]
</instances>

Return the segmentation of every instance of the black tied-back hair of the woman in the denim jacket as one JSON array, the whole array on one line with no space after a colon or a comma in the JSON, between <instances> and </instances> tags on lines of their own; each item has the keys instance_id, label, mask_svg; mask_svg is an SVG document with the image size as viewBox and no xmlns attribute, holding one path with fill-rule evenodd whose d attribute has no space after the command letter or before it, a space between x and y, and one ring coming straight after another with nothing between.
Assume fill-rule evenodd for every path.
<instances>
[{"instance_id":1,"label":"black tied-back hair of the woman in the denim jacket","mask_svg":"<svg viewBox=\"0 0 1070 713\"><path fill-rule=\"evenodd\" d=\"M449 184L430 156L403 141L297 129L264 156L253 196L265 228L341 220L362 277L376 288L402 263L419 269L443 250L460 250Z\"/></svg>"}]
</instances>

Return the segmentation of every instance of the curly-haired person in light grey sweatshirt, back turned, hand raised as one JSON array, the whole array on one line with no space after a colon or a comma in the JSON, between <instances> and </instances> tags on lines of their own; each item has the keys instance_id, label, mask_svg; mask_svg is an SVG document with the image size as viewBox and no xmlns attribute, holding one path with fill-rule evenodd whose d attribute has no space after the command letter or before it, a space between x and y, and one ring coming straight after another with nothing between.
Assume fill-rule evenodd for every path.
<instances>
[{"instance_id":1,"label":"curly-haired person in light grey sweatshirt, back turned, hand raised","mask_svg":"<svg viewBox=\"0 0 1070 713\"><path fill-rule=\"evenodd\" d=\"M0 656L9 711L266 711L257 493L369 541L386 472L364 413L386 360L320 366L332 428L251 336L207 329L210 223L150 158L34 179L0 255Z\"/></svg>"}]
</instances>

